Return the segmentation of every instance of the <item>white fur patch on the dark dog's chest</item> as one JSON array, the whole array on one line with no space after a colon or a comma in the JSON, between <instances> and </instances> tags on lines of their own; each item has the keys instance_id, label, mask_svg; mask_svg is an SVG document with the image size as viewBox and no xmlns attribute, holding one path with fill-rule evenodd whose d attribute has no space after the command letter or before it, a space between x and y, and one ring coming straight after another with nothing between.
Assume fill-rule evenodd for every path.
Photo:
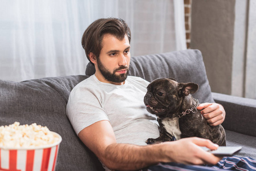
<instances>
[{"instance_id":1,"label":"white fur patch on the dark dog's chest","mask_svg":"<svg viewBox=\"0 0 256 171\"><path fill-rule=\"evenodd\" d=\"M164 128L170 135L176 137L177 140L180 140L181 131L180 126L178 125L178 120L175 119L169 119L165 118L162 120L162 124L164 125Z\"/></svg>"}]
</instances>

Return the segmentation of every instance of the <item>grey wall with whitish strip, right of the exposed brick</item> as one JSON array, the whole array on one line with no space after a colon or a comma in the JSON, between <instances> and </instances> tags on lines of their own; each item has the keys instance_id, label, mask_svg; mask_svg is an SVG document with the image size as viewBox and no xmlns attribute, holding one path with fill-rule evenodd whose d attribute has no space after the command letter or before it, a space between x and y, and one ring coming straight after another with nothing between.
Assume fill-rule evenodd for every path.
<instances>
[{"instance_id":1,"label":"grey wall with whitish strip, right of the exposed brick","mask_svg":"<svg viewBox=\"0 0 256 171\"><path fill-rule=\"evenodd\" d=\"M256 1L193 0L190 48L201 50L213 92L256 99Z\"/></svg>"}]
</instances>

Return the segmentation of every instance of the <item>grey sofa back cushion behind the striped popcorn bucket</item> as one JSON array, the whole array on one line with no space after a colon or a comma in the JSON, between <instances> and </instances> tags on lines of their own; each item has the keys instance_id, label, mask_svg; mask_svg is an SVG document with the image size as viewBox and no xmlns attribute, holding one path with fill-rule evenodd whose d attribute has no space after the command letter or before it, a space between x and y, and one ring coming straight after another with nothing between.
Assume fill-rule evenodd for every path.
<instances>
[{"instance_id":1,"label":"grey sofa back cushion behind the striped popcorn bucket","mask_svg":"<svg viewBox=\"0 0 256 171\"><path fill-rule=\"evenodd\" d=\"M88 76L8 82L0 80L0 125L40 124L62 136L56 170L102 170L99 160L74 132L66 104L71 89ZM94 164L92 164L94 163Z\"/></svg>"}]
</instances>

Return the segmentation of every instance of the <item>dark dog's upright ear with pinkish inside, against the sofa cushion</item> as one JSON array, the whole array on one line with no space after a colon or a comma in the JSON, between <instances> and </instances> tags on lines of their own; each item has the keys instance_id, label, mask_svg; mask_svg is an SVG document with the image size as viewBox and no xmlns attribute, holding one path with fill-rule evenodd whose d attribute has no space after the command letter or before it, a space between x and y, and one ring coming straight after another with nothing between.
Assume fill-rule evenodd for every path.
<instances>
[{"instance_id":1,"label":"dark dog's upright ear with pinkish inside, against the sofa cushion","mask_svg":"<svg viewBox=\"0 0 256 171\"><path fill-rule=\"evenodd\" d=\"M178 91L178 95L180 96L188 96L190 93L197 92L199 86L195 83L179 83L180 87Z\"/></svg>"}]
</instances>

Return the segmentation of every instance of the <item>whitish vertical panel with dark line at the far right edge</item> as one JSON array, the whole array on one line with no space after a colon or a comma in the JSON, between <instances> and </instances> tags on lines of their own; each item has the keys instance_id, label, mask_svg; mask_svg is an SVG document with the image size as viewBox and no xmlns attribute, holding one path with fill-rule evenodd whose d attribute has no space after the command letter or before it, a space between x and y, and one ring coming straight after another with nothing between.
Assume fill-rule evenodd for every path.
<instances>
[{"instance_id":1,"label":"whitish vertical panel with dark line at the far right edge","mask_svg":"<svg viewBox=\"0 0 256 171\"><path fill-rule=\"evenodd\" d=\"M231 95L256 99L256 1L235 1Z\"/></svg>"}]
</instances>

